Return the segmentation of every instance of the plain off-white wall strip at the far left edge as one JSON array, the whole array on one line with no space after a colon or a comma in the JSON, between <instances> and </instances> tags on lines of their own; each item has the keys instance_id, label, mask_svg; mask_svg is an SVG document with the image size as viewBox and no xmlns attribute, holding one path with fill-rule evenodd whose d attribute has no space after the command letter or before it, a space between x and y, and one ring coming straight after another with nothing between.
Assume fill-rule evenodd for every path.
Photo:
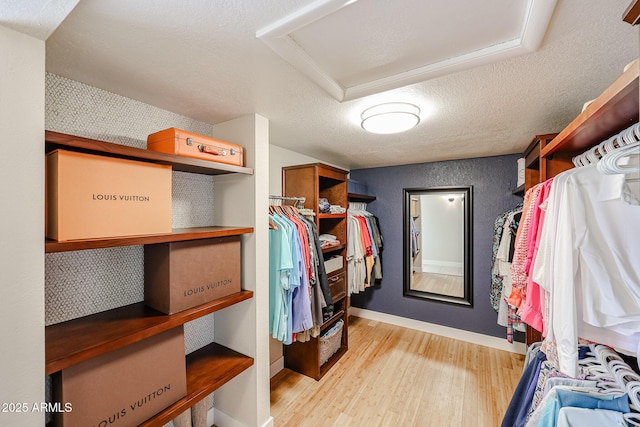
<instances>
[{"instance_id":1,"label":"plain off-white wall strip at the far left edge","mask_svg":"<svg viewBox=\"0 0 640 427\"><path fill-rule=\"evenodd\" d=\"M0 52L0 403L33 405L44 401L45 379L45 45L0 26ZM44 419L0 412L3 426Z\"/></svg>"}]
</instances>

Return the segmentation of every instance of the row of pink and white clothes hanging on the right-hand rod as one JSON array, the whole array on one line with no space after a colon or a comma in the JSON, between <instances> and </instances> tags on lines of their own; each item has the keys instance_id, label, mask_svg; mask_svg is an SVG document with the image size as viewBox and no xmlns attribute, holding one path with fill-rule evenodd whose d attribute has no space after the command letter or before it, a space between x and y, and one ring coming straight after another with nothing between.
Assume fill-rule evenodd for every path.
<instances>
[{"instance_id":1,"label":"row of pink and white clothes hanging on the right-hand rod","mask_svg":"<svg viewBox=\"0 0 640 427\"><path fill-rule=\"evenodd\" d=\"M640 263L631 256L640 253L640 172L605 174L598 166L581 165L527 191L511 292L502 295L542 332L548 359L572 377L579 338L640 354Z\"/></svg>"}]
</instances>

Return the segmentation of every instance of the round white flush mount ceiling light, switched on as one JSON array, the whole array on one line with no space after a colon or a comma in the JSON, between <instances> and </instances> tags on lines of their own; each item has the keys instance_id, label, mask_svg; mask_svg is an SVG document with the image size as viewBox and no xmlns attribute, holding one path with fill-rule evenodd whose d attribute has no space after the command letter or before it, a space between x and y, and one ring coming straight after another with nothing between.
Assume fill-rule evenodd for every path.
<instances>
[{"instance_id":1,"label":"round white flush mount ceiling light, switched on","mask_svg":"<svg viewBox=\"0 0 640 427\"><path fill-rule=\"evenodd\" d=\"M420 108L407 102L387 102L362 112L362 128L367 132L404 132L420 123Z\"/></svg>"}]
</instances>

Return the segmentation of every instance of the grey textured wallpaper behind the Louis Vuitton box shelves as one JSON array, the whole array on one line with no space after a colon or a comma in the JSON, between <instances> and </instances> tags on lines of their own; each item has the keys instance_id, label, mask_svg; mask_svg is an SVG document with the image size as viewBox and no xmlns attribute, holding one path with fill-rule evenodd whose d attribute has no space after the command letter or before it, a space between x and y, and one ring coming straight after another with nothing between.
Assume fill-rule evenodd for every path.
<instances>
[{"instance_id":1,"label":"grey textured wallpaper behind the Louis Vuitton box shelves","mask_svg":"<svg viewBox=\"0 0 640 427\"><path fill-rule=\"evenodd\" d=\"M147 135L170 127L211 135L213 126L151 105L46 75L45 128L146 148ZM213 177L173 172L173 227L214 225ZM46 254L45 322L51 325L144 299L142 246ZM185 350L213 341L213 315L185 324Z\"/></svg>"}]
</instances>

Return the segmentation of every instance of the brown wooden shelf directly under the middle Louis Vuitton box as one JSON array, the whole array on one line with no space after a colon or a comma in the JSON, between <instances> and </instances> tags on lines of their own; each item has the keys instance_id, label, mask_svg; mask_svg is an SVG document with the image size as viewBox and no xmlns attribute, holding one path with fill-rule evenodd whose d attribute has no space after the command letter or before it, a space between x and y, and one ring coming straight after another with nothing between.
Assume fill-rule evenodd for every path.
<instances>
[{"instance_id":1,"label":"brown wooden shelf directly under the middle Louis Vuitton box","mask_svg":"<svg viewBox=\"0 0 640 427\"><path fill-rule=\"evenodd\" d=\"M252 297L253 292L240 291L171 315L141 302L47 326L45 373L52 374Z\"/></svg>"}]
</instances>

